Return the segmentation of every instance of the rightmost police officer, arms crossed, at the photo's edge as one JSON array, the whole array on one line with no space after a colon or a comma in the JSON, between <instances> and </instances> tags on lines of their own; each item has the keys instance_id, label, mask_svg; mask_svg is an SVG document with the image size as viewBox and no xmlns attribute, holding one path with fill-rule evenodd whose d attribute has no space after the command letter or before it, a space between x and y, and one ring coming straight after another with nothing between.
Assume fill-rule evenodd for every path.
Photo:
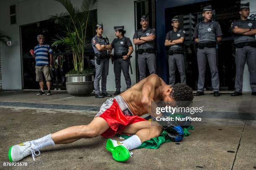
<instances>
[{"instance_id":1,"label":"rightmost police officer, arms crossed, at the photo's edge","mask_svg":"<svg viewBox=\"0 0 256 170\"><path fill-rule=\"evenodd\" d=\"M234 33L236 47L236 91L231 96L242 95L243 69L247 62L250 72L250 84L252 95L256 95L256 20L248 20L250 14L249 3L241 4L241 20L233 21L231 30Z\"/></svg>"}]
</instances>

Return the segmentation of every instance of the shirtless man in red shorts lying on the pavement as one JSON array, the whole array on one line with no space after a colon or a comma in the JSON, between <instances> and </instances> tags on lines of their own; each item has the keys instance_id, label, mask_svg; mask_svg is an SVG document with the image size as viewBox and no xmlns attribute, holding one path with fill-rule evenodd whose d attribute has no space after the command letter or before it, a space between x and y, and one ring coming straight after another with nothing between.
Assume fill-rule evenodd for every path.
<instances>
[{"instance_id":1,"label":"shirtless man in red shorts lying on the pavement","mask_svg":"<svg viewBox=\"0 0 256 170\"><path fill-rule=\"evenodd\" d=\"M122 142L108 139L107 149L117 161L130 158L129 150L135 149L146 140L158 137L163 128L146 121L141 115L151 112L152 101L190 101L193 100L192 89L185 84L166 85L164 80L152 74L141 80L131 88L109 98L102 104L100 111L88 125L79 125L46 135L37 140L13 145L9 149L9 160L17 162L32 154L40 155L42 148L56 144L72 143L82 138L94 138L99 135L110 138L116 133L131 134L130 138ZM38 154L36 154L38 152Z\"/></svg>"}]
</instances>

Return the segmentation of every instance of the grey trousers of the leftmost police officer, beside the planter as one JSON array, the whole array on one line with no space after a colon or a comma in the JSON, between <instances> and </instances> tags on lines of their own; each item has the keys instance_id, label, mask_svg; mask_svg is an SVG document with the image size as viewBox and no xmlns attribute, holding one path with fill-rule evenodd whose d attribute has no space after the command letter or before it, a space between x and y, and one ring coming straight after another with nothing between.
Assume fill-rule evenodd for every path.
<instances>
[{"instance_id":1,"label":"grey trousers of the leftmost police officer, beside the planter","mask_svg":"<svg viewBox=\"0 0 256 170\"><path fill-rule=\"evenodd\" d=\"M100 65L95 60L96 74L94 78L94 90L95 95L100 94L100 79L101 79L101 91L107 92L107 76L108 76L109 59L100 59Z\"/></svg>"}]
</instances>

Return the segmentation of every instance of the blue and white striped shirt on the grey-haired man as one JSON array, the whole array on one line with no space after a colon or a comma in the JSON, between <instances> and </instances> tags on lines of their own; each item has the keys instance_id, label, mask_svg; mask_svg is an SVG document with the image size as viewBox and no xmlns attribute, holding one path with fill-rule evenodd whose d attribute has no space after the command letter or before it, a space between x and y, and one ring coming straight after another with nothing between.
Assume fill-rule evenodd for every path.
<instances>
[{"instance_id":1,"label":"blue and white striped shirt on the grey-haired man","mask_svg":"<svg viewBox=\"0 0 256 170\"><path fill-rule=\"evenodd\" d=\"M36 65L48 65L48 52L51 54L51 47L47 44L44 45L36 45L34 47L34 55L36 55Z\"/></svg>"}]
</instances>

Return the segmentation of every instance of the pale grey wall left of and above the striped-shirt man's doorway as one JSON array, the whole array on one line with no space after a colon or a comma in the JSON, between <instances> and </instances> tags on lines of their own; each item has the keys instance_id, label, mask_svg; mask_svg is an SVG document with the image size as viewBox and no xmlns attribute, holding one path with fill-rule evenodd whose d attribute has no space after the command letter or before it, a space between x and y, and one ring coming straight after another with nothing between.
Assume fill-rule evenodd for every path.
<instances>
[{"instance_id":1,"label":"pale grey wall left of and above the striped-shirt man's doorway","mask_svg":"<svg viewBox=\"0 0 256 170\"><path fill-rule=\"evenodd\" d=\"M79 5L81 0L73 0ZM10 5L16 5L16 24L10 25ZM54 0L0 1L0 29L12 37L11 47L1 47L3 89L22 89L22 61L20 52L20 25L46 20L49 15L65 12ZM36 37L35 37L36 38Z\"/></svg>"}]
</instances>

